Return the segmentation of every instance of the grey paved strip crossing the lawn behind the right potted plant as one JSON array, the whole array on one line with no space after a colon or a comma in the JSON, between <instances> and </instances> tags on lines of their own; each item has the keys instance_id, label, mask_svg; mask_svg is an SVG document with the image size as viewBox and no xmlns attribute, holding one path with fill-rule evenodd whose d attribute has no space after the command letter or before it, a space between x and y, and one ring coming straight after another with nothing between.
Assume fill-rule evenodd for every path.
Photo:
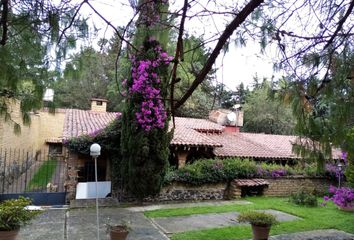
<instances>
[{"instance_id":1,"label":"grey paved strip crossing the lawn behind the right potted plant","mask_svg":"<svg viewBox=\"0 0 354 240\"><path fill-rule=\"evenodd\" d=\"M278 221L294 221L300 218L276 211L265 210L264 212L271 213L276 216ZM192 230L200 230L205 228L219 228L227 226L235 226L240 223L236 221L238 212L227 213L211 213L211 214L194 214L191 216L181 217L161 217L153 218L152 221L165 233L173 234Z\"/></svg>"}]
</instances>

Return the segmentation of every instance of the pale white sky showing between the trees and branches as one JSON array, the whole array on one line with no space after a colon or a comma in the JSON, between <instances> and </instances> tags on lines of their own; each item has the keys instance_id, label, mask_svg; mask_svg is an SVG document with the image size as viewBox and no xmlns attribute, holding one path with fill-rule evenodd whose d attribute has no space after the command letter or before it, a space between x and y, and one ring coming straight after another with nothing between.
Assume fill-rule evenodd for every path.
<instances>
[{"instance_id":1,"label":"pale white sky showing between the trees and branches","mask_svg":"<svg viewBox=\"0 0 354 240\"><path fill-rule=\"evenodd\" d=\"M170 1L170 8L179 8L183 1ZM226 0L230 5L237 4L233 0ZM95 0L90 1L92 5L100 12L108 21L115 26L126 25L133 16L133 11L129 6L128 0ZM198 6L194 6L198 11ZM210 7L210 6L208 6ZM93 11L86 5L81 11L83 15L89 16L91 26L94 24L99 29L97 36L91 36L93 39L92 45L97 47L96 40L102 37L109 38L113 35L111 28L93 13ZM215 31L220 31L224 28L227 19L222 17L214 17L210 19L193 19L186 22L186 31L193 34L203 34L206 39L208 34ZM201 26L206 26L201 30ZM208 32L209 30L209 32ZM208 47L212 48L213 44ZM274 51L273 51L274 52ZM229 51L224 55L220 54L214 67L217 68L216 79L218 83L224 83L229 90L236 90L241 82L245 86L252 88L253 79L257 76L259 79L264 77L271 79L274 75L279 78L279 73L274 73L273 63L271 61L272 52L266 55L260 54L260 47L258 42L249 42L246 47L236 47L235 44L230 43Z\"/></svg>"}]
</instances>

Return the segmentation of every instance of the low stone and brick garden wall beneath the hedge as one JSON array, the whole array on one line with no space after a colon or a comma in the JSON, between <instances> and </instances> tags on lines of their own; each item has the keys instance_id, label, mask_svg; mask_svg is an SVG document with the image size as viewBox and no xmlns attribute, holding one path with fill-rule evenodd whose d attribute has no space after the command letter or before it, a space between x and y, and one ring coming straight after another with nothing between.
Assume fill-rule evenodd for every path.
<instances>
[{"instance_id":1,"label":"low stone and brick garden wall beneath the hedge","mask_svg":"<svg viewBox=\"0 0 354 240\"><path fill-rule=\"evenodd\" d=\"M301 189L315 193L327 192L329 185L335 183L324 178L308 178L290 176L275 179L265 179L269 186L264 188L264 196L289 196ZM241 197L241 189L235 186L235 180L230 184L205 184L191 186L174 182L163 187L155 201L183 201L183 200L219 200L237 199Z\"/></svg>"}]
</instances>

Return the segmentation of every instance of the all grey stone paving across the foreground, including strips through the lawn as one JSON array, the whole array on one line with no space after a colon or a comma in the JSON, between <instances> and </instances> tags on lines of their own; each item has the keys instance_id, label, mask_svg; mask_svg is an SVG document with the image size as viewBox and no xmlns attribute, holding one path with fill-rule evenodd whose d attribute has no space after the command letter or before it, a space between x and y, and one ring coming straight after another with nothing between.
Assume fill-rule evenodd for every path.
<instances>
[{"instance_id":1,"label":"all grey stone paving across the foreground, including strips through the lawn","mask_svg":"<svg viewBox=\"0 0 354 240\"><path fill-rule=\"evenodd\" d=\"M196 204L192 206L204 205ZM210 203L208 203L210 204ZM172 204L171 206L183 206ZM153 208L153 207L151 207ZM135 209L137 210L137 209ZM267 210L275 214L279 221L298 219L295 216ZM217 227L227 224L238 224L234 219L237 213L200 214L185 217L147 219L142 212L132 211L131 208L100 208L100 236L101 240L108 240L105 224L127 223L131 230L128 240L168 240L162 232L165 224L166 233L180 232L181 227ZM178 220L178 218L180 218ZM178 221L177 221L178 220ZM175 222L173 222L175 221ZM156 225L155 225L156 224ZM170 224L167 226L167 224ZM199 224L199 226L198 226ZM348 223L350 224L350 223ZM157 227L157 225L159 227ZM191 229L184 229L188 231ZM48 209L39 215L30 225L21 228L19 240L91 240L96 239L96 210L95 208L80 209ZM338 230L317 230L293 234L272 236L271 240L354 240L354 235Z\"/></svg>"}]
</instances>

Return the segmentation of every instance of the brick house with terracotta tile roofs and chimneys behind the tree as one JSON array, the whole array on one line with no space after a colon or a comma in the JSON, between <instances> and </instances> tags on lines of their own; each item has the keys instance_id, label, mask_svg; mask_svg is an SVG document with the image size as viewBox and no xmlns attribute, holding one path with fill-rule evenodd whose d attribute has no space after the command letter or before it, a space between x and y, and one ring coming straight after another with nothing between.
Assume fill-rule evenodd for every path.
<instances>
[{"instance_id":1,"label":"brick house with terracotta tile roofs and chimneys behind the tree","mask_svg":"<svg viewBox=\"0 0 354 240\"><path fill-rule=\"evenodd\" d=\"M31 115L31 127L22 126L22 134L17 136L12 128L0 124L0 148L45 149L49 153L63 154L63 141L82 135L96 134L104 129L120 113L106 111L107 101L92 99L90 110L57 109L52 115L44 109ZM18 108L18 106L17 106ZM16 113L16 111L13 111ZM19 112L19 108L17 109ZM19 120L19 113L14 119ZM216 110L209 119L174 119L174 136L170 143L170 163L182 167L198 158L252 158L259 161L295 161L299 159L292 152L296 136L243 133L242 112ZM170 127L172 127L172 122ZM340 153L335 151L334 158ZM94 162L91 157L80 153L70 153L66 158L67 179L65 182L68 198L75 197L78 182L94 181ZM104 156L98 161L98 180L110 180L110 163Z\"/></svg>"}]
</instances>

